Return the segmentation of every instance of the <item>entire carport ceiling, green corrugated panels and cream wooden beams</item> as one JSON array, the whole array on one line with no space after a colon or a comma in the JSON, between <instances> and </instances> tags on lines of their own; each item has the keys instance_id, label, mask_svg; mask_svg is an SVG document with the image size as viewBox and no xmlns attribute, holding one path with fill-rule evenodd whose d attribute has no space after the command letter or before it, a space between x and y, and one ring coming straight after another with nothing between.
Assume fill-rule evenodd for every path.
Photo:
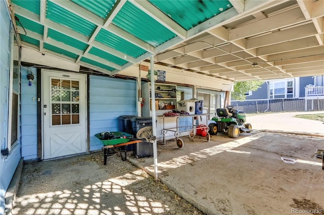
<instances>
[{"instance_id":1,"label":"entire carport ceiling, green corrugated panels and cream wooden beams","mask_svg":"<svg viewBox=\"0 0 324 215\"><path fill-rule=\"evenodd\" d=\"M324 73L321 0L8 3L25 47L110 75L152 55L231 81Z\"/></svg>"}]
</instances>

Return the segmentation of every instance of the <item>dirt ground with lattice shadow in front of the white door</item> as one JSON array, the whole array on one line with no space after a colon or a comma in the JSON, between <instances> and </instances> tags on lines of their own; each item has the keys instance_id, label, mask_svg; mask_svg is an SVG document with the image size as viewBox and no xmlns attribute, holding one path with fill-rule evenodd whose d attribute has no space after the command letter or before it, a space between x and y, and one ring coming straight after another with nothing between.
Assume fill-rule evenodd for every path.
<instances>
[{"instance_id":1,"label":"dirt ground with lattice shadow in front of the white door","mask_svg":"<svg viewBox=\"0 0 324 215\"><path fill-rule=\"evenodd\" d=\"M93 153L25 164L13 214L204 213L118 154L104 166Z\"/></svg>"}]
</instances>

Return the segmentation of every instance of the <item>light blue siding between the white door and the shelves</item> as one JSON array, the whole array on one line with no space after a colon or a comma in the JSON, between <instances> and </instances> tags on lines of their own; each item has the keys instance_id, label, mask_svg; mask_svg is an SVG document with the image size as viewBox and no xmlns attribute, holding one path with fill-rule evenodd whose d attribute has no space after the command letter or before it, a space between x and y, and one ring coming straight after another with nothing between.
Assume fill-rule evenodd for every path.
<instances>
[{"instance_id":1,"label":"light blue siding between the white door and the shelves","mask_svg":"<svg viewBox=\"0 0 324 215\"><path fill-rule=\"evenodd\" d=\"M137 115L136 81L90 76L90 150L102 147L95 134L118 131L117 118Z\"/></svg>"}]
</instances>

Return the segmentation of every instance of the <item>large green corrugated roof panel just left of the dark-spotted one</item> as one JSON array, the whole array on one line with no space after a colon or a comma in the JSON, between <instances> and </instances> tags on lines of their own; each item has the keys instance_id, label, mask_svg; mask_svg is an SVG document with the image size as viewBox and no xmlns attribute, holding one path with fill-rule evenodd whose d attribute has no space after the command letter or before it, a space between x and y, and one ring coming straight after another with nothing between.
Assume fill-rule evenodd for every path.
<instances>
[{"instance_id":1,"label":"large green corrugated roof panel just left of the dark-spotted one","mask_svg":"<svg viewBox=\"0 0 324 215\"><path fill-rule=\"evenodd\" d=\"M176 36L130 2L125 3L112 23L154 47Z\"/></svg>"}]
</instances>

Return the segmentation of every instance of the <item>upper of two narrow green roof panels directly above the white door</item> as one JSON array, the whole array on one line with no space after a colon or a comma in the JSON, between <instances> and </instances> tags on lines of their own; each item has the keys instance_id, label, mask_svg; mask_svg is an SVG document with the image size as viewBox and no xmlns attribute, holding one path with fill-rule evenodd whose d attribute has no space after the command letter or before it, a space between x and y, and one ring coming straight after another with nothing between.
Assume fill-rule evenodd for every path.
<instances>
[{"instance_id":1,"label":"upper of two narrow green roof panels directly above the white door","mask_svg":"<svg viewBox=\"0 0 324 215\"><path fill-rule=\"evenodd\" d=\"M85 51L86 48L88 47L87 43L81 42L81 41L79 41L77 39L69 37L69 36L67 36L65 34L62 34L62 33L58 32L58 31L55 31L53 29L48 30L47 36L54 39L54 40L56 40L56 41L63 42L65 44L69 45L69 46L77 48L79 50Z\"/></svg>"}]
</instances>

